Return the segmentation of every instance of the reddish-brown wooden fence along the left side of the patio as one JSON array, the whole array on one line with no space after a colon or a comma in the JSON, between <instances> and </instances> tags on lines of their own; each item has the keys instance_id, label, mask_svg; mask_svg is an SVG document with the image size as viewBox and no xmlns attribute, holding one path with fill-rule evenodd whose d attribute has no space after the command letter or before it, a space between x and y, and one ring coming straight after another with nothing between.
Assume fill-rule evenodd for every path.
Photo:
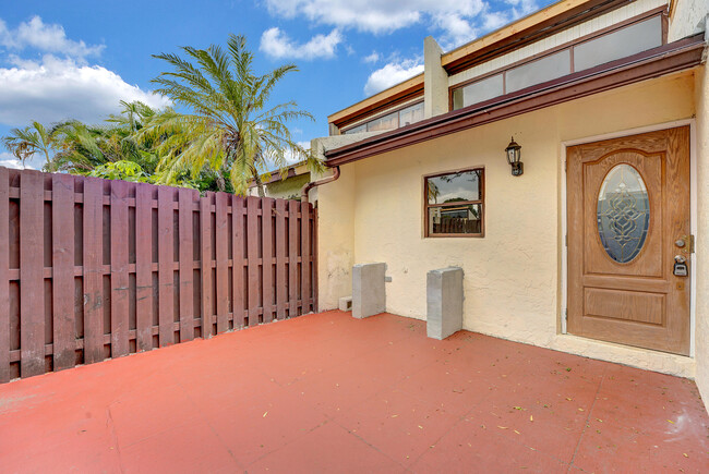
<instances>
[{"instance_id":1,"label":"reddish-brown wooden fence along the left side of the patio","mask_svg":"<svg viewBox=\"0 0 709 474\"><path fill-rule=\"evenodd\" d=\"M0 168L0 382L316 307L296 200Z\"/></svg>"}]
</instances>

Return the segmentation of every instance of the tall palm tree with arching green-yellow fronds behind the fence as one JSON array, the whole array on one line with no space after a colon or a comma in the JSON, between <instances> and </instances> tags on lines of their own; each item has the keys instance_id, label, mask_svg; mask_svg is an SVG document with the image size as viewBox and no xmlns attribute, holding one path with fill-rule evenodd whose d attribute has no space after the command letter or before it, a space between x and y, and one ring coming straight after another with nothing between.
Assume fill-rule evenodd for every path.
<instances>
[{"instance_id":1,"label":"tall palm tree with arching green-yellow fronds behind the fence","mask_svg":"<svg viewBox=\"0 0 709 474\"><path fill-rule=\"evenodd\" d=\"M169 111L137 133L139 137L166 137L158 145L158 155L164 157L158 171L164 172L167 183L185 171L196 175L208 167L218 175L228 172L235 192L241 195L253 179L263 196L261 175L269 166L285 174L288 153L297 160L307 160L311 171L322 170L320 160L298 145L287 127L291 120L313 117L298 109L295 101L267 107L276 84L297 71L293 64L255 75L254 58L243 36L230 35L227 52L215 45L181 49L188 59L154 56L167 61L173 71L161 73L153 82L159 85L157 93L191 113Z\"/></svg>"}]
</instances>

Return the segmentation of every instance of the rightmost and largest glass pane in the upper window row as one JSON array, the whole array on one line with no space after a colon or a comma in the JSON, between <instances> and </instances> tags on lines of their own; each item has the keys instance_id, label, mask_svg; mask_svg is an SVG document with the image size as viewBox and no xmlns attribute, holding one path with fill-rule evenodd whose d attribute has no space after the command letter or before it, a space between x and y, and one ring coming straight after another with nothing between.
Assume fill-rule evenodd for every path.
<instances>
[{"instance_id":1,"label":"rightmost and largest glass pane in the upper window row","mask_svg":"<svg viewBox=\"0 0 709 474\"><path fill-rule=\"evenodd\" d=\"M662 23L660 16L653 16L574 47L574 71L584 71L658 46L662 46Z\"/></svg>"}]
</instances>

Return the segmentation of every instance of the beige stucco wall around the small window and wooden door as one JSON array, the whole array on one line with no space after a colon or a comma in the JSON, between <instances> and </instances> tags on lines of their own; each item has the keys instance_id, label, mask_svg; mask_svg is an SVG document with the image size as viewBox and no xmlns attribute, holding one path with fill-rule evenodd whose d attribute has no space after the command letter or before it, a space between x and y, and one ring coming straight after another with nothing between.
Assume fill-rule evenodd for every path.
<instances>
[{"instance_id":1,"label":"beige stucco wall around the small window and wooden door","mask_svg":"<svg viewBox=\"0 0 709 474\"><path fill-rule=\"evenodd\" d=\"M423 319L426 271L460 266L465 329L694 376L689 357L560 335L561 144L689 119L694 89L692 72L675 74L341 167L339 181L319 190L321 309L351 293L352 264L384 262L387 312ZM522 146L520 178L504 157L510 135ZM485 168L485 238L423 239L422 177L476 166Z\"/></svg>"}]
</instances>

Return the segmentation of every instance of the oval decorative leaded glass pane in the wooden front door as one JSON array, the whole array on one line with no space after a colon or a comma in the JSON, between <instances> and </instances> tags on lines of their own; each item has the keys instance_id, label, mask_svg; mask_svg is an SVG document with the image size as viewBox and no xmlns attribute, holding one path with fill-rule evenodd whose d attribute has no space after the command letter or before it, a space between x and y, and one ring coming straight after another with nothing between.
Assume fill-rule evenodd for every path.
<instances>
[{"instance_id":1,"label":"oval decorative leaded glass pane in the wooden front door","mask_svg":"<svg viewBox=\"0 0 709 474\"><path fill-rule=\"evenodd\" d=\"M648 236L650 200L642 178L629 165L611 169L598 196L598 233L608 255L626 264L635 258Z\"/></svg>"}]
</instances>

